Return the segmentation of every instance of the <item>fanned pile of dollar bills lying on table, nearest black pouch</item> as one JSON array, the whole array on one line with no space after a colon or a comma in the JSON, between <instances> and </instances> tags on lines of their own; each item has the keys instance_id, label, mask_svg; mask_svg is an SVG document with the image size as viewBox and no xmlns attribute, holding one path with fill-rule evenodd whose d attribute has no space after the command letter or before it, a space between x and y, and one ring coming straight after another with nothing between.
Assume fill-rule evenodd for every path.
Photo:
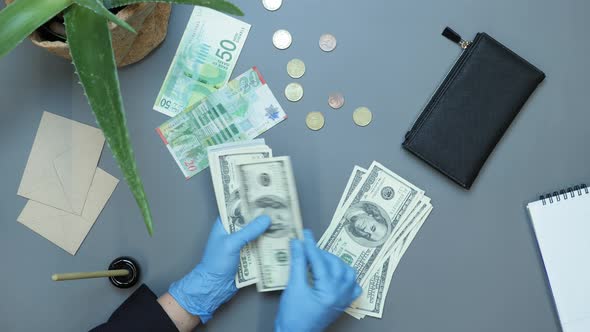
<instances>
[{"instance_id":1,"label":"fanned pile of dollar bills lying on table, nearest black pouch","mask_svg":"<svg viewBox=\"0 0 590 332\"><path fill-rule=\"evenodd\" d=\"M355 166L318 246L357 272L362 295L346 312L381 318L399 261L432 211L430 198L378 162Z\"/></svg>"}]
</instances>

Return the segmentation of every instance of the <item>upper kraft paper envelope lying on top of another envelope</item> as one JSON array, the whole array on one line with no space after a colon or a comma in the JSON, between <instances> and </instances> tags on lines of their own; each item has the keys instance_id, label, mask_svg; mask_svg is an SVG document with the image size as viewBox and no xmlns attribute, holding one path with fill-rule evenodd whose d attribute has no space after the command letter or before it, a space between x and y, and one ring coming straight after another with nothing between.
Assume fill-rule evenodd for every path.
<instances>
[{"instance_id":1,"label":"upper kraft paper envelope lying on top of another envelope","mask_svg":"<svg viewBox=\"0 0 590 332\"><path fill-rule=\"evenodd\" d=\"M43 112L18 195L80 215L104 140L97 128Z\"/></svg>"}]
</instances>

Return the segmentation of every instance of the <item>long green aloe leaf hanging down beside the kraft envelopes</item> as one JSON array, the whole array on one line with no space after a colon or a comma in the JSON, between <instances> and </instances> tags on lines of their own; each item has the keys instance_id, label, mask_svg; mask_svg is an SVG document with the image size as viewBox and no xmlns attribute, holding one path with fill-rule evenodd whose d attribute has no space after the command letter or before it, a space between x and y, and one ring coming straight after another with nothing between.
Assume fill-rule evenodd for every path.
<instances>
[{"instance_id":1,"label":"long green aloe leaf hanging down beside the kraft envelopes","mask_svg":"<svg viewBox=\"0 0 590 332\"><path fill-rule=\"evenodd\" d=\"M152 215L127 132L108 21L76 4L64 18L70 53L88 102L152 235Z\"/></svg>"}]
</instances>

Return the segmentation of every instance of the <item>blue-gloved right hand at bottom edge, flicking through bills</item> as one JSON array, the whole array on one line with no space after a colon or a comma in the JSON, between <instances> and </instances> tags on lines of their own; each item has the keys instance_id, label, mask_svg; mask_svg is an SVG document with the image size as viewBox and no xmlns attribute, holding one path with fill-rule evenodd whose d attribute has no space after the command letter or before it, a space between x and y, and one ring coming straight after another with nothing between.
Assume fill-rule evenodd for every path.
<instances>
[{"instance_id":1,"label":"blue-gloved right hand at bottom edge, flicking through bills","mask_svg":"<svg viewBox=\"0 0 590 332\"><path fill-rule=\"evenodd\" d=\"M291 272L275 321L277 332L323 331L362 292L353 268L319 249L311 231L304 235L303 243L291 242ZM308 263L313 285L308 282Z\"/></svg>"}]
</instances>

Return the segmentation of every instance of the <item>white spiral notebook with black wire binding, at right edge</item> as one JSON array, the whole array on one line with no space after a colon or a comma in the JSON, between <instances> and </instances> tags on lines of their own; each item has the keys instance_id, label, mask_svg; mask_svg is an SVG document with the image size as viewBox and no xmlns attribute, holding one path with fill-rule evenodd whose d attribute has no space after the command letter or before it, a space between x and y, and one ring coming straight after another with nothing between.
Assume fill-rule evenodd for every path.
<instances>
[{"instance_id":1,"label":"white spiral notebook with black wire binding, at right edge","mask_svg":"<svg viewBox=\"0 0 590 332\"><path fill-rule=\"evenodd\" d=\"M590 190L564 189L527 208L563 331L590 331Z\"/></svg>"}]
</instances>

